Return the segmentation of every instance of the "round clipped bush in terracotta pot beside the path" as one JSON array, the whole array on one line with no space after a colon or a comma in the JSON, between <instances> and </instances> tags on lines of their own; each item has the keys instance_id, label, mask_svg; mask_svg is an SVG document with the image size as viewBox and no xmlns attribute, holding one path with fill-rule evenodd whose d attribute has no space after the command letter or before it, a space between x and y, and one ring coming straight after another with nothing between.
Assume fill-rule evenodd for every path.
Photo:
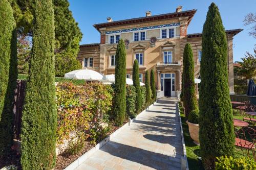
<instances>
[{"instance_id":1,"label":"round clipped bush in terracotta pot beside the path","mask_svg":"<svg viewBox=\"0 0 256 170\"><path fill-rule=\"evenodd\" d=\"M190 137L194 140L194 143L199 145L199 125L198 125L198 118L199 118L199 110L192 110L188 114L188 119L186 121L188 125L188 130Z\"/></svg>"}]
</instances>

